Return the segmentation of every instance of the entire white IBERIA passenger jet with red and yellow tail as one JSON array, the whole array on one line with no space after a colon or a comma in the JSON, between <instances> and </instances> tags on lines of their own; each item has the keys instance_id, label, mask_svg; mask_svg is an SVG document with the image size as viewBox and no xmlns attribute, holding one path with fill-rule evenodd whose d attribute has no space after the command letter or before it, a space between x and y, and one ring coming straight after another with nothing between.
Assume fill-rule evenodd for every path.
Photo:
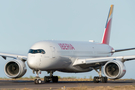
<instances>
[{"instance_id":1,"label":"entire white IBERIA passenger jet with red and yellow tail","mask_svg":"<svg viewBox=\"0 0 135 90\"><path fill-rule=\"evenodd\" d=\"M13 58L5 65L5 74L10 78L22 77L27 69L25 61L33 73L36 72L35 84L41 83L39 73L47 71L50 76L44 77L44 82L58 82L53 76L55 71L81 73L95 70L99 76L94 77L95 83L106 83L107 79L119 79L126 73L125 61L134 60L134 56L111 57L113 53L133 50L135 48L114 50L109 46L113 5L110 7L105 32L101 43L84 41L47 40L35 43L28 56L0 53L4 59ZM102 72L103 71L103 72ZM104 73L105 77L102 76Z\"/></svg>"}]
</instances>

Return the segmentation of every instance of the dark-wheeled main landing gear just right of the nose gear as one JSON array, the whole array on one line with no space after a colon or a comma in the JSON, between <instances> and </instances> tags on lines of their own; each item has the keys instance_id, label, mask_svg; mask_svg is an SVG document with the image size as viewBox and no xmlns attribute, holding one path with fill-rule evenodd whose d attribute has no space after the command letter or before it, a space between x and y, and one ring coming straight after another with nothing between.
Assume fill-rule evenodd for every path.
<instances>
[{"instance_id":1,"label":"dark-wheeled main landing gear just right of the nose gear","mask_svg":"<svg viewBox=\"0 0 135 90\"><path fill-rule=\"evenodd\" d=\"M48 73L50 73L50 76L45 76L44 82L46 83L46 82L52 81L52 82L57 83L58 82L58 76L53 76L53 71L50 71Z\"/></svg>"}]
</instances>

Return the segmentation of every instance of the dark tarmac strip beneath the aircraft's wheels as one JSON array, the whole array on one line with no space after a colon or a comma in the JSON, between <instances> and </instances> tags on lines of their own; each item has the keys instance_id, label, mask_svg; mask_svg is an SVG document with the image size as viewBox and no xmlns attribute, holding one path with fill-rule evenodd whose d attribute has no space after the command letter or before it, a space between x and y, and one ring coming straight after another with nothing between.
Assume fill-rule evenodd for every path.
<instances>
[{"instance_id":1,"label":"dark tarmac strip beneath the aircraft's wheels","mask_svg":"<svg viewBox=\"0 0 135 90\"><path fill-rule=\"evenodd\" d=\"M124 86L134 85L135 80L120 80L120 81L108 81L108 83L94 83L93 81L59 81L58 83L44 83L34 84L34 81L24 80L0 80L0 89L6 88L33 88L33 89L59 89L62 87L79 87L79 86Z\"/></svg>"}]
</instances>

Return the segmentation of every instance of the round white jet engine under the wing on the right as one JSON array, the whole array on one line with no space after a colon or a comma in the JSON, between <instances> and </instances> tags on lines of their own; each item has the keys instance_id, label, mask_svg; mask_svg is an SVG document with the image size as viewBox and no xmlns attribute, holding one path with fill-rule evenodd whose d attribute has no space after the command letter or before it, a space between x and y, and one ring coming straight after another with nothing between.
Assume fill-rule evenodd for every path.
<instances>
[{"instance_id":1,"label":"round white jet engine under the wing on the right","mask_svg":"<svg viewBox=\"0 0 135 90\"><path fill-rule=\"evenodd\" d=\"M119 79L125 75L126 67L121 61L112 60L105 64L103 72L109 79Z\"/></svg>"}]
</instances>

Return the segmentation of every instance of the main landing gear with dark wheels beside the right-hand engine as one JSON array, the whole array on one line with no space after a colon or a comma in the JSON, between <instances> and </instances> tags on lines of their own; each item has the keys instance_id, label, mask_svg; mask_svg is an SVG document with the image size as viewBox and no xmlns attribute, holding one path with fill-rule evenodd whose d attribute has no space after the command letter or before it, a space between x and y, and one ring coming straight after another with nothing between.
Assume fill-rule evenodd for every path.
<instances>
[{"instance_id":1,"label":"main landing gear with dark wheels beside the right-hand engine","mask_svg":"<svg viewBox=\"0 0 135 90\"><path fill-rule=\"evenodd\" d=\"M107 77L102 76L101 68L102 68L101 66L99 67L99 70L96 68L93 68L99 75L99 77L98 76L94 77L94 79L93 79L94 83L99 83L99 82L107 83L108 79L107 79Z\"/></svg>"}]
</instances>

